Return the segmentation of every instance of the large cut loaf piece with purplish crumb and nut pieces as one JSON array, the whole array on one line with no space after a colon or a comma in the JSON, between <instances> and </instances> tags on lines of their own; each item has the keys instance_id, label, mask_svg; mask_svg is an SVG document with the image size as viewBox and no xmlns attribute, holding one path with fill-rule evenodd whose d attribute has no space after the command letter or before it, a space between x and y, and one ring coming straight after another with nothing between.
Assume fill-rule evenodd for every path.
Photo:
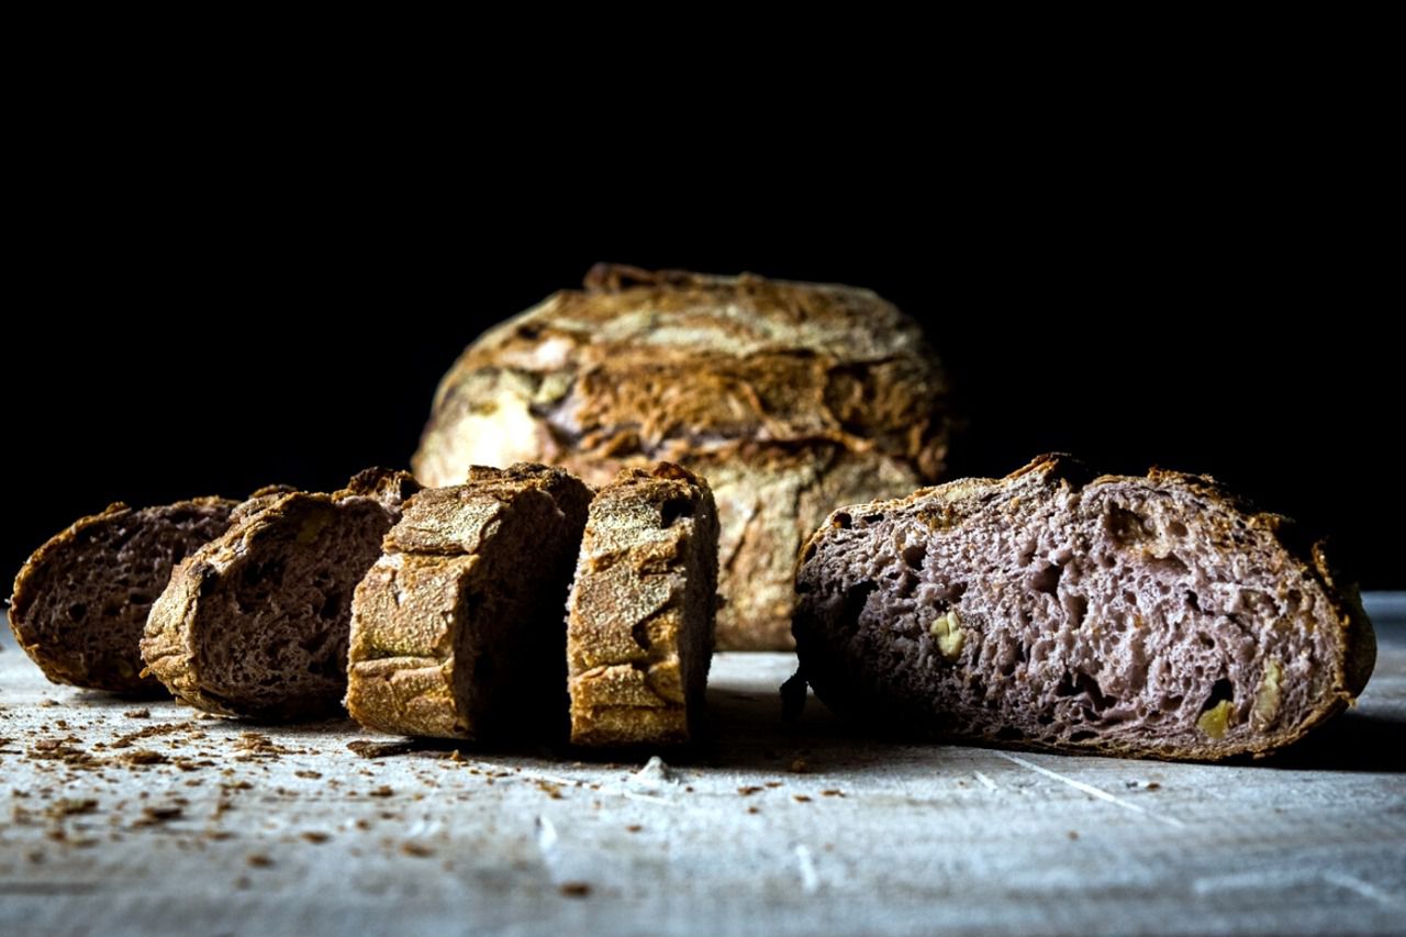
<instances>
[{"instance_id":1,"label":"large cut loaf piece with purplish crumb and nut pieces","mask_svg":"<svg viewBox=\"0 0 1406 937\"><path fill-rule=\"evenodd\" d=\"M1263 756L1347 706L1376 647L1288 519L1066 456L835 511L796 591L801 674L831 708L1063 751Z\"/></svg>"}]
</instances>

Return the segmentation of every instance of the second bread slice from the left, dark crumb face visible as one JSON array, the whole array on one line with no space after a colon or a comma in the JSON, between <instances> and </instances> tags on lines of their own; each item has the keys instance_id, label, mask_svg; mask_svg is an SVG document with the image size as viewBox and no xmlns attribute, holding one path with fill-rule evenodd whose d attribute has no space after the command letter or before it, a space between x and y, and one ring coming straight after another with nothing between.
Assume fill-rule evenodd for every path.
<instances>
[{"instance_id":1,"label":"second bread slice from the left, dark crumb face visible","mask_svg":"<svg viewBox=\"0 0 1406 937\"><path fill-rule=\"evenodd\" d=\"M266 490L186 559L152 606L148 670L193 706L294 719L346 691L352 591L418 485L371 468L336 494Z\"/></svg>"}]
</instances>

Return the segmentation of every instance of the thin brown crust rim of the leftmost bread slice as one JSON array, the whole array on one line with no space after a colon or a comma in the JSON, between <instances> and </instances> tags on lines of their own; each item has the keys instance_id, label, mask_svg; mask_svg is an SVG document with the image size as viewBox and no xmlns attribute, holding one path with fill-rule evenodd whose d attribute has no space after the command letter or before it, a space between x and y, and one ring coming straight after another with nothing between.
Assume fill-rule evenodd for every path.
<instances>
[{"instance_id":1,"label":"thin brown crust rim of the leftmost bread slice","mask_svg":"<svg viewBox=\"0 0 1406 937\"><path fill-rule=\"evenodd\" d=\"M75 559L72 553L82 543L84 536L107 525L120 522L141 523L141 515L146 512L170 512L183 509L229 511L238 502L228 498L205 497L177 501L163 508L132 509L122 502L110 504L101 514L79 518L67 528L49 537L35 550L14 580L14 589L10 599L10 629L24 653L39 665L44 675L56 684L72 684L90 689L107 689L112 692L160 692L160 685L141 674L141 654L132 646L127 660L117 660L114 664L96 665L94 661L84 660L48 644L28 622L30 608L38 598L39 589L45 587L46 571L55 566L65 566Z\"/></svg>"}]
</instances>

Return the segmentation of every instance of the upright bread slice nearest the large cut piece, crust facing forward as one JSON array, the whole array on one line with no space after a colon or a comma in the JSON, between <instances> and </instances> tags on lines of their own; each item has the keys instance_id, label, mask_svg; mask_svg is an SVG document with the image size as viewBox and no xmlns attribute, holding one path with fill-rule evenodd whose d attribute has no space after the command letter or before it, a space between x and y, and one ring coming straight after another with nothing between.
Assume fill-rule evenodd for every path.
<instances>
[{"instance_id":1,"label":"upright bread slice nearest the large cut piece, crust facing forward","mask_svg":"<svg viewBox=\"0 0 1406 937\"><path fill-rule=\"evenodd\" d=\"M717 508L671 463L626 468L591 504L571 589L571 740L689 741L713 656Z\"/></svg>"}]
</instances>

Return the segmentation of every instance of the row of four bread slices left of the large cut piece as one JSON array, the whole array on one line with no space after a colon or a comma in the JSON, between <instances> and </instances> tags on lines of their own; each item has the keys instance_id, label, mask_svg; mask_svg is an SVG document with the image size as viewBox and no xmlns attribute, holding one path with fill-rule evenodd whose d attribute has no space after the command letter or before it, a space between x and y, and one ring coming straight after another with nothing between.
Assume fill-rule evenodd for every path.
<instances>
[{"instance_id":1,"label":"row of four bread slices left of the large cut piece","mask_svg":"<svg viewBox=\"0 0 1406 937\"><path fill-rule=\"evenodd\" d=\"M20 571L10 625L53 681L162 688L225 716L450 739L672 744L699 730L717 512L669 463L592 491L562 468L420 488L373 468L333 494L264 488L112 505Z\"/></svg>"}]
</instances>

